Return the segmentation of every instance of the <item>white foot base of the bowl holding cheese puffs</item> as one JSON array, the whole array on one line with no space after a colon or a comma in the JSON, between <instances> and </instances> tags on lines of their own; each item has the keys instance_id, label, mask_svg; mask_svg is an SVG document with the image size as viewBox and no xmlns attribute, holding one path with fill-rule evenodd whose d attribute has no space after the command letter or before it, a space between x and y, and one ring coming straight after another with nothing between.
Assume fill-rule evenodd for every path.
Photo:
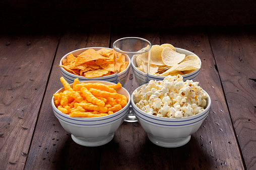
<instances>
[{"instance_id":1,"label":"white foot base of the bowl holding cheese puffs","mask_svg":"<svg viewBox=\"0 0 256 170\"><path fill-rule=\"evenodd\" d=\"M71 137L74 140L74 142L83 146L101 146L103 144L110 142L114 137L114 133L111 133L104 137L90 138L90 139L83 138L83 137L76 137L73 134L71 135Z\"/></svg>"}]
</instances>

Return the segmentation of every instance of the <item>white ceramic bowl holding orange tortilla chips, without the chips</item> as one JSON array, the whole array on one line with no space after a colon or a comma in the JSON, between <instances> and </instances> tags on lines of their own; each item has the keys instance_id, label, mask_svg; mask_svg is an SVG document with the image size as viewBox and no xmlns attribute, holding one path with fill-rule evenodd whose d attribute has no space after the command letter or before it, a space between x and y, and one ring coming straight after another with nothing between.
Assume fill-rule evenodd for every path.
<instances>
[{"instance_id":1,"label":"white ceramic bowl holding orange tortilla chips, without the chips","mask_svg":"<svg viewBox=\"0 0 256 170\"><path fill-rule=\"evenodd\" d=\"M83 48L83 49L78 49L75 51L72 51L70 53L73 53L74 56L77 56L81 53L83 53L84 51L88 50L88 49L94 49L94 50L100 50L104 47L90 47L90 48ZM110 48L104 48L104 49L109 49L112 50ZM70 54L66 54L65 56L63 56L59 62L59 65L62 65L62 59L67 59L67 56ZM113 74L113 75L109 75L109 76L103 76L103 77L95 77L95 78L86 78L84 76L78 76L72 73L67 72L65 69L63 69L62 67L60 67L60 71L62 76L65 78L66 81L68 81L69 83L74 83L74 79L79 78L79 81L87 81L87 80L100 80L100 81L108 81L108 82L112 82L112 83L117 83L117 77L118 77L118 81L122 84L122 81L125 80L125 78L127 77L129 70L130 70L130 66L131 66L131 59L127 56L125 56L125 61L129 61L129 65L127 66L127 68L122 71L121 73L118 73L117 75Z\"/></svg>"}]
</instances>

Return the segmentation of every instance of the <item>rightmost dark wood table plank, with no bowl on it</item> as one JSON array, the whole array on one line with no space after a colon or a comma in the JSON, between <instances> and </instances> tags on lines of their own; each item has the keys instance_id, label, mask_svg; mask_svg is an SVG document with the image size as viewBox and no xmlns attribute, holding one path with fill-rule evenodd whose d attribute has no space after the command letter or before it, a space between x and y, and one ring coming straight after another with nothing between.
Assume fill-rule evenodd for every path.
<instances>
[{"instance_id":1,"label":"rightmost dark wood table plank, with no bowl on it","mask_svg":"<svg viewBox=\"0 0 256 170\"><path fill-rule=\"evenodd\" d=\"M209 38L246 167L256 169L255 27L212 28Z\"/></svg>"}]
</instances>

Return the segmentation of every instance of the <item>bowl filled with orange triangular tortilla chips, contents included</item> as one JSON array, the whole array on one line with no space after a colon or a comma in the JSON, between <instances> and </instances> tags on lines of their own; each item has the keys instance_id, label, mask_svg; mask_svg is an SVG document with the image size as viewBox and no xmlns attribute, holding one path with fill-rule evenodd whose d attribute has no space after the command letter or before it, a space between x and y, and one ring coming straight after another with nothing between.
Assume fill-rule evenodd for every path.
<instances>
[{"instance_id":1,"label":"bowl filled with orange triangular tortilla chips, contents included","mask_svg":"<svg viewBox=\"0 0 256 170\"><path fill-rule=\"evenodd\" d=\"M117 77L124 81L129 73L131 59L127 56L116 58L116 70L114 66L114 53L110 48L90 47L72 51L63 56L59 62L62 76L73 83L79 81L100 80L117 83ZM123 82L120 82L123 83Z\"/></svg>"}]
</instances>

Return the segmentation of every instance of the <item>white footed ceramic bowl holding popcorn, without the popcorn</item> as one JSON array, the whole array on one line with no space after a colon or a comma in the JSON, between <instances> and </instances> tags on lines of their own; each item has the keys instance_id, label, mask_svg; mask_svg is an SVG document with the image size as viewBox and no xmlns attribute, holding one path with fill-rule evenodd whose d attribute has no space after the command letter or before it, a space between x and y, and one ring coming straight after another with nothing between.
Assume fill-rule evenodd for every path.
<instances>
[{"instance_id":1,"label":"white footed ceramic bowl holding popcorn, without the popcorn","mask_svg":"<svg viewBox=\"0 0 256 170\"><path fill-rule=\"evenodd\" d=\"M136 90L139 91L141 87ZM204 90L203 92L206 93ZM207 107L203 112L182 118L158 117L148 114L135 105L133 95L131 97L131 103L137 120L148 133L149 139L154 144L163 147L179 147L190 140L191 134L199 129L209 114L211 98L208 94L207 96Z\"/></svg>"}]
</instances>

